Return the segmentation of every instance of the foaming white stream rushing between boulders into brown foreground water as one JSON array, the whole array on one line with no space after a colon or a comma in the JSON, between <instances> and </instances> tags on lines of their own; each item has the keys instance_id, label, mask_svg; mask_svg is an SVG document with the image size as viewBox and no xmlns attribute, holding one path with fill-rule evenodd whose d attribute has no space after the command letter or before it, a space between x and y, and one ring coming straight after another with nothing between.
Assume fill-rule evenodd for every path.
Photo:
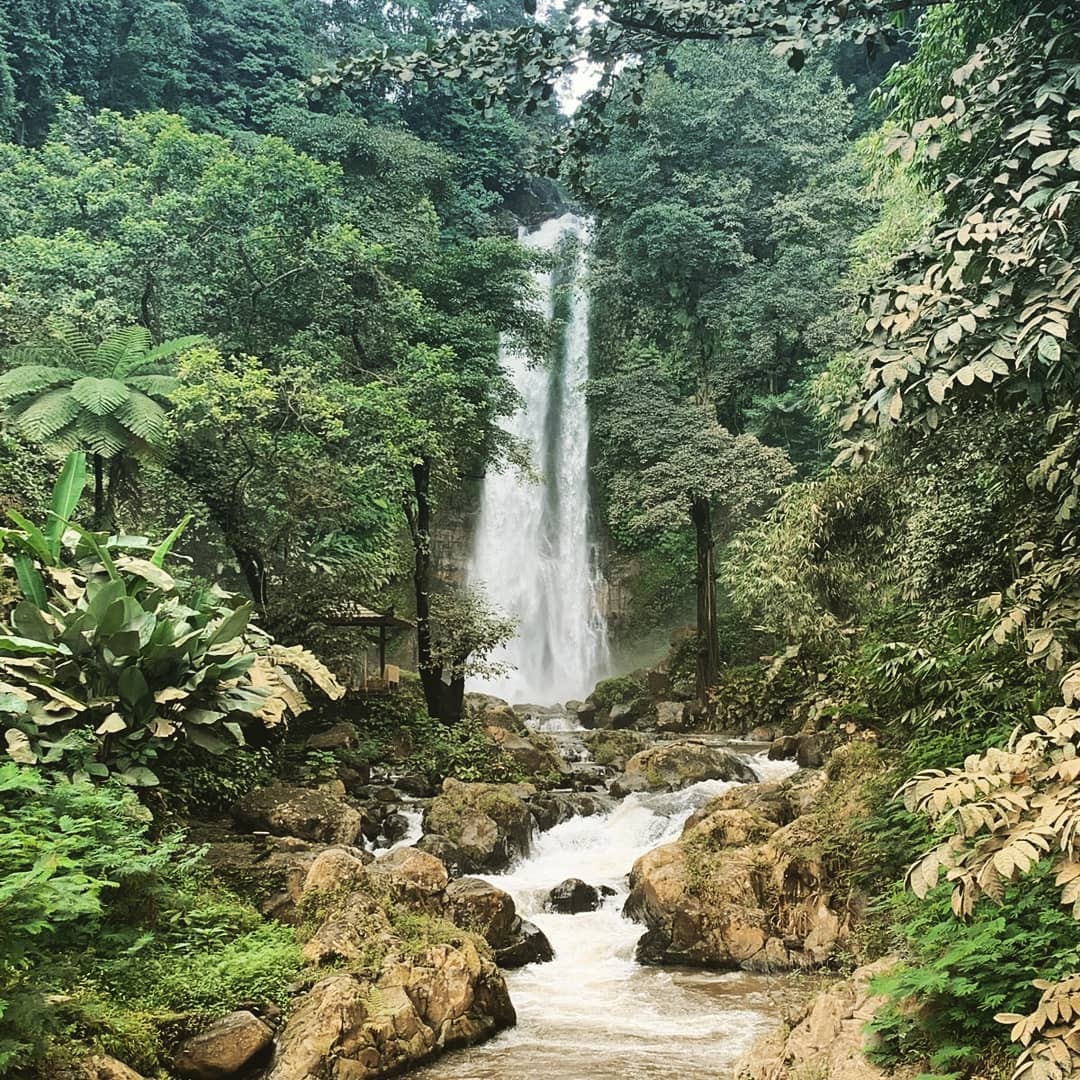
<instances>
[{"instance_id":1,"label":"foaming white stream rushing between boulders into brown foreground water","mask_svg":"<svg viewBox=\"0 0 1080 1080\"><path fill-rule=\"evenodd\" d=\"M762 779L789 762L751 761ZM535 840L532 852L487 880L548 935L551 963L508 974L517 1026L421 1069L423 1080L715 1080L772 1022L766 976L642 967L644 928L624 919L634 861L678 837L694 810L731 786L705 781L680 792L631 795L607 814L572 818ZM543 910L569 877L615 890L596 912Z\"/></svg>"}]
</instances>

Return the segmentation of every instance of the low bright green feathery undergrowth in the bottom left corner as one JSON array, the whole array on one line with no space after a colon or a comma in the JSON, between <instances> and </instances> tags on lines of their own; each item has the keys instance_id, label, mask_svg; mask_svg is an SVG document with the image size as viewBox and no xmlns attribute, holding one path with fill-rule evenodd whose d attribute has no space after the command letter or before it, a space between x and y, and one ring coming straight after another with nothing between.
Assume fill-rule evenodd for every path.
<instances>
[{"instance_id":1,"label":"low bright green feathery undergrowth in the bottom left corner","mask_svg":"<svg viewBox=\"0 0 1080 1080\"><path fill-rule=\"evenodd\" d=\"M286 1003L302 970L293 930L199 855L154 839L125 788L0 765L0 1074L48 1076L86 1049L149 1072L206 1018Z\"/></svg>"}]
</instances>

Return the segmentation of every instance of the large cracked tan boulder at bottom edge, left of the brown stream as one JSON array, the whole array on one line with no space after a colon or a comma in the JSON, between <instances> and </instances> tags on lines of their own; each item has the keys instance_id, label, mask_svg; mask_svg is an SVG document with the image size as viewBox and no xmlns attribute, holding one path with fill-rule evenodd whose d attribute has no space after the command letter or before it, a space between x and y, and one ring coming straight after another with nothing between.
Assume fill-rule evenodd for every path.
<instances>
[{"instance_id":1,"label":"large cracked tan boulder at bottom edge, left of the brown stream","mask_svg":"<svg viewBox=\"0 0 1080 1080\"><path fill-rule=\"evenodd\" d=\"M374 980L334 974L301 997L267 1080L374 1080L515 1023L501 973L471 941L391 955Z\"/></svg>"}]
</instances>

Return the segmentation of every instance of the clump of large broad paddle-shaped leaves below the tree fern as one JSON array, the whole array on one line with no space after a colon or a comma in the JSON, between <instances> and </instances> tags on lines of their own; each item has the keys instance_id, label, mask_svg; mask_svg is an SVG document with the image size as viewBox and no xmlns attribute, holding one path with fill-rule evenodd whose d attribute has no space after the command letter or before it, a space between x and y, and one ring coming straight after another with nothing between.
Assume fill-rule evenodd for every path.
<instances>
[{"instance_id":1,"label":"clump of large broad paddle-shaped leaves below the tree fern","mask_svg":"<svg viewBox=\"0 0 1080 1080\"><path fill-rule=\"evenodd\" d=\"M73 777L151 785L162 753L187 741L213 754L252 723L308 707L288 670L343 692L302 648L251 623L252 604L165 564L190 518L160 544L71 521L86 482L72 454L43 528L17 513L0 551L23 598L3 611L0 727L11 758Z\"/></svg>"}]
</instances>

